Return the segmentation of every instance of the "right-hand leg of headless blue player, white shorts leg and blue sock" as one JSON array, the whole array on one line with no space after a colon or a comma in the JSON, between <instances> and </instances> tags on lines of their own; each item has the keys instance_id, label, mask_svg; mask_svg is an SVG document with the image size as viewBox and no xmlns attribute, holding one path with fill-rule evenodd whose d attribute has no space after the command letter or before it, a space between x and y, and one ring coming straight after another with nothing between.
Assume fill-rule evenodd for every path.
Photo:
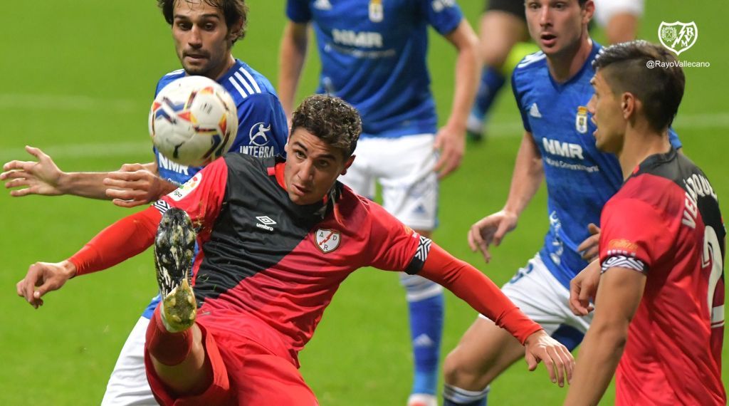
<instances>
[{"instance_id":1,"label":"right-hand leg of headless blue player, white shorts leg and blue sock","mask_svg":"<svg viewBox=\"0 0 729 406\"><path fill-rule=\"evenodd\" d=\"M382 184L383 207L405 225L429 237L436 224L438 181L433 171L434 136L421 134L380 139L371 157ZM443 335L443 287L420 276L402 274L410 315L415 379L409 405L435 405L440 341Z\"/></svg>"}]
</instances>

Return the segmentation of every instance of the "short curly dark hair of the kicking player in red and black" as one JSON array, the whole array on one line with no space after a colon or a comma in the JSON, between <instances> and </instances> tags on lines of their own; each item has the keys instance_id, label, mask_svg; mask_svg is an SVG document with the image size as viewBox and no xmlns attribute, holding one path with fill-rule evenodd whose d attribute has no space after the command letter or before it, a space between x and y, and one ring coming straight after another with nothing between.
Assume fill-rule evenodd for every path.
<instances>
[{"instance_id":1,"label":"short curly dark hair of the kicking player in red and black","mask_svg":"<svg viewBox=\"0 0 729 406\"><path fill-rule=\"evenodd\" d=\"M359 112L332 95L311 95L297 107L291 120L291 133L303 128L351 157L362 133Z\"/></svg>"}]
</instances>

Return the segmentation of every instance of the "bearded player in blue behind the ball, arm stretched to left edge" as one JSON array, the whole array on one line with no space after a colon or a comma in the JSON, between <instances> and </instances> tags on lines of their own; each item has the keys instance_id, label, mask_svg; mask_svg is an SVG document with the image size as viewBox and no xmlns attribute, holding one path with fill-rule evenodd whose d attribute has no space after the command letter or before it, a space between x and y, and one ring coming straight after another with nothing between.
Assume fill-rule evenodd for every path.
<instances>
[{"instance_id":1,"label":"bearded player in blue behind the ball, arm stretched to left edge","mask_svg":"<svg viewBox=\"0 0 729 406\"><path fill-rule=\"evenodd\" d=\"M286 115L268 79L233 58L233 43L243 38L247 7L243 0L158 0L172 26L175 48L183 69L163 76L155 95L169 82L185 75L217 80L233 96L238 109L238 133L229 152L256 157L284 154L288 136ZM113 198L117 206L139 206L157 200L192 178L200 167L188 167L155 152L155 162L127 164L117 172L64 173L40 149L26 147L37 162L12 161L0 179L11 192L24 195L79 195ZM114 367L102 405L157 405L144 372L144 339L155 297L130 332Z\"/></svg>"}]
</instances>

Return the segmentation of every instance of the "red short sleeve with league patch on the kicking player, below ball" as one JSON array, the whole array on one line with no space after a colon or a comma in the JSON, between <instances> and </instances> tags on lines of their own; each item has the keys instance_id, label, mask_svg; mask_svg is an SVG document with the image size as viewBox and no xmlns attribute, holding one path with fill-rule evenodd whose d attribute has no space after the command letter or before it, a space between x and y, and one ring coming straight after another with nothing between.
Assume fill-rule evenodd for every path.
<instances>
[{"instance_id":1,"label":"red short sleeve with league patch on the kicking player, below ball","mask_svg":"<svg viewBox=\"0 0 729 406\"><path fill-rule=\"evenodd\" d=\"M162 214L170 207L181 208L196 228L209 231L220 213L226 184L227 165L218 158L153 206Z\"/></svg>"}]
</instances>

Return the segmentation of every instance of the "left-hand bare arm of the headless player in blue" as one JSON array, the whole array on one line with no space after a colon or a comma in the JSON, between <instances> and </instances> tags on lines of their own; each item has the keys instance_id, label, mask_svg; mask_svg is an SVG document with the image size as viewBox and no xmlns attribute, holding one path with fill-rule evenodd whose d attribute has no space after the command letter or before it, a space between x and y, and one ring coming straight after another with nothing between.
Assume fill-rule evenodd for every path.
<instances>
[{"instance_id":1,"label":"left-hand bare arm of the headless player in blue","mask_svg":"<svg viewBox=\"0 0 729 406\"><path fill-rule=\"evenodd\" d=\"M308 24L286 23L278 55L278 98L288 120L291 120L294 111L296 89L304 68L307 47Z\"/></svg>"}]
</instances>

